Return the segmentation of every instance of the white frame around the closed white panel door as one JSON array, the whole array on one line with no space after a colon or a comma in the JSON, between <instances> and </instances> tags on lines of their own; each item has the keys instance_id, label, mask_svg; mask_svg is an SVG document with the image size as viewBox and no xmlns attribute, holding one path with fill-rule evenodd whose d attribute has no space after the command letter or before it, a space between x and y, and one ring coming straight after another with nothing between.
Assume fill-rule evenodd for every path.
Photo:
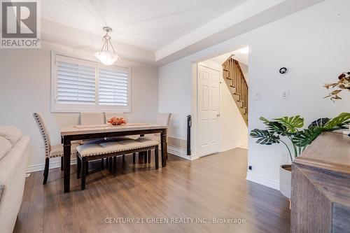
<instances>
[{"instance_id":1,"label":"white frame around the closed white panel door","mask_svg":"<svg viewBox=\"0 0 350 233\"><path fill-rule=\"evenodd\" d=\"M204 62L197 62L197 78L196 78L196 81L197 81L197 94L196 94L196 121L198 122L197 124L197 155L198 157L204 157L204 156L207 156L207 155L202 155L202 151L200 150L200 133L202 132L202 127L200 126L199 122L200 122L200 66L204 66L208 69L212 69L214 71L218 71L219 72L219 90L218 90L218 112L219 114L221 115L221 78L223 76L223 68L221 65L219 64L216 64L214 62L210 62L210 61L204 61ZM219 135L218 135L218 152L216 153L219 153L220 150L221 150L221 117L219 116L218 117L218 126L219 126ZM209 154L209 155L212 155L212 154Z\"/></svg>"}]
</instances>

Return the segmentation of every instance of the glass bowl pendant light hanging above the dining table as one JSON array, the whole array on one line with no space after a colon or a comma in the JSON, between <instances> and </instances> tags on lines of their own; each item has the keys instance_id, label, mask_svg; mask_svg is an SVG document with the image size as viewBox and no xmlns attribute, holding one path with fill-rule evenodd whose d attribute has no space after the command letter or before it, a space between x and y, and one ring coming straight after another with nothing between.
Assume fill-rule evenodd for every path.
<instances>
[{"instance_id":1,"label":"glass bowl pendant light hanging above the dining table","mask_svg":"<svg viewBox=\"0 0 350 233\"><path fill-rule=\"evenodd\" d=\"M104 44L102 45L101 51L95 52L94 56L97 57L102 64L109 66L118 61L120 57L116 54L111 43L111 36L109 36L109 32L112 31L111 27L104 27L103 30L106 31L106 35L104 35Z\"/></svg>"}]
</instances>

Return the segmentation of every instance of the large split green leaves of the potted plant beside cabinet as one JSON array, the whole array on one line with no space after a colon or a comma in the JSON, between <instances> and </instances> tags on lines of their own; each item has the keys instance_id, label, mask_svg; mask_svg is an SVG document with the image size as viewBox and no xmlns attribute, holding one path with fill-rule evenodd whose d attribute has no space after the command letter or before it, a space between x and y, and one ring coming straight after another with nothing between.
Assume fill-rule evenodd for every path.
<instances>
[{"instance_id":1,"label":"large split green leaves of the potted plant beside cabinet","mask_svg":"<svg viewBox=\"0 0 350 233\"><path fill-rule=\"evenodd\" d=\"M256 143L261 145L283 143L288 150L290 160L293 161L322 132L344 129L345 125L350 123L350 113L340 113L332 119L319 118L311 122L307 129L302 129L304 127L304 118L301 118L300 115L276 118L272 121L262 117L259 119L266 125L267 129L253 129L251 137L258 139ZM285 139L292 144L292 150L290 150Z\"/></svg>"}]
</instances>

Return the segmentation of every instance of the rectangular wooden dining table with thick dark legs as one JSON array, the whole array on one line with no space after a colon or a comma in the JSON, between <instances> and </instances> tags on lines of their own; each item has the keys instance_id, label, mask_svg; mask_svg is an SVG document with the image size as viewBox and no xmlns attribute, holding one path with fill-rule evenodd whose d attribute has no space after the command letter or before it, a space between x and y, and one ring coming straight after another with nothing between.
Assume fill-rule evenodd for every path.
<instances>
[{"instance_id":1,"label":"rectangular wooden dining table with thick dark legs","mask_svg":"<svg viewBox=\"0 0 350 233\"><path fill-rule=\"evenodd\" d=\"M73 125L61 129L64 150L64 192L70 191L71 141L103 139L113 136L130 136L160 133L162 167L167 166L167 125L127 124L127 125Z\"/></svg>"}]
</instances>

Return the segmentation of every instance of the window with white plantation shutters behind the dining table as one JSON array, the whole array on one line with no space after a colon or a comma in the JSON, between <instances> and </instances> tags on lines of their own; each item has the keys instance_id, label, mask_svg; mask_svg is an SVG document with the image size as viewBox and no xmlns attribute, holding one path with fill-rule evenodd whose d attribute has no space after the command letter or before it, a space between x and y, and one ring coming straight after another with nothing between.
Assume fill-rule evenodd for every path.
<instances>
[{"instance_id":1,"label":"window with white plantation shutters behind the dining table","mask_svg":"<svg viewBox=\"0 0 350 233\"><path fill-rule=\"evenodd\" d=\"M52 112L130 112L130 69L52 55Z\"/></svg>"}]
</instances>

